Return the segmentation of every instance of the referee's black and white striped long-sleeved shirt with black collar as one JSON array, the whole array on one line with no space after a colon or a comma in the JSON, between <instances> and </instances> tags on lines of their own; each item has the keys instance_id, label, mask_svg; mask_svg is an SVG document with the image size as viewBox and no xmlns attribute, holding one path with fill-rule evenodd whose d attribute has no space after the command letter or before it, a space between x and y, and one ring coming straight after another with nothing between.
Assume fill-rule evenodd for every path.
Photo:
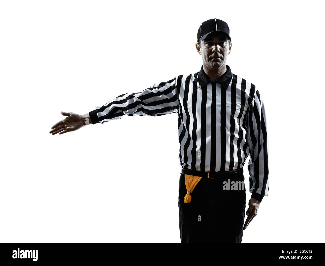
<instances>
[{"instance_id":1,"label":"referee's black and white striped long-sleeved shirt with black collar","mask_svg":"<svg viewBox=\"0 0 325 266\"><path fill-rule=\"evenodd\" d=\"M250 192L268 195L264 104L255 85L227 71L213 82L204 72L175 76L139 93L125 93L89 112L93 124L124 115L178 113L179 161L196 171L242 168L250 156Z\"/></svg>"}]
</instances>

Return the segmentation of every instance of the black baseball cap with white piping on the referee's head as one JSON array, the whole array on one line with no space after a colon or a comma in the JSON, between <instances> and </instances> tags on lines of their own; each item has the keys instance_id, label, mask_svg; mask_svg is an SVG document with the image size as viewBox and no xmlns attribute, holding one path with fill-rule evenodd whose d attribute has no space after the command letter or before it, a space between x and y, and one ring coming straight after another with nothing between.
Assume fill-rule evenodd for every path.
<instances>
[{"instance_id":1,"label":"black baseball cap with white piping on the referee's head","mask_svg":"<svg viewBox=\"0 0 325 266\"><path fill-rule=\"evenodd\" d=\"M230 30L228 24L223 20L211 19L202 22L198 30L198 40L204 40L210 33L224 32L228 35L230 41Z\"/></svg>"}]
</instances>

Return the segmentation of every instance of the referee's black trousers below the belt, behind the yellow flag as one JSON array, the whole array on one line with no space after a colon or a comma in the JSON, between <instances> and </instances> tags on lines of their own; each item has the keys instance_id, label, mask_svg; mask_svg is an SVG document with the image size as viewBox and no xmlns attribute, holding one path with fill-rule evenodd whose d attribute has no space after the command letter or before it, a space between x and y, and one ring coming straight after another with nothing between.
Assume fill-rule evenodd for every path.
<instances>
[{"instance_id":1,"label":"referee's black trousers below the belt, behind the yellow flag","mask_svg":"<svg viewBox=\"0 0 325 266\"><path fill-rule=\"evenodd\" d=\"M232 190L234 186L231 189L232 181L238 190ZM181 243L241 243L246 207L245 187L240 190L237 185L241 181L244 181L242 173L215 179L203 177L191 193L191 202L184 203L187 190L185 174L181 174L178 189ZM230 190L224 190L225 186Z\"/></svg>"}]
</instances>

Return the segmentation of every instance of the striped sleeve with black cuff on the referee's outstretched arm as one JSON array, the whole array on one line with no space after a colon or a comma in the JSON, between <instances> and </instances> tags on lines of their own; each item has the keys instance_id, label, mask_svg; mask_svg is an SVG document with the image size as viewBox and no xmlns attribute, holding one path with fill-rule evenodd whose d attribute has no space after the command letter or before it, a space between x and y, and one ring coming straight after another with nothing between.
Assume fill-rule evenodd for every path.
<instances>
[{"instance_id":1,"label":"striped sleeve with black cuff on the referee's outstretched arm","mask_svg":"<svg viewBox=\"0 0 325 266\"><path fill-rule=\"evenodd\" d=\"M156 83L138 93L125 93L104 106L89 112L92 124L103 124L124 115L161 116L177 113L179 101L176 94L177 77Z\"/></svg>"}]
</instances>

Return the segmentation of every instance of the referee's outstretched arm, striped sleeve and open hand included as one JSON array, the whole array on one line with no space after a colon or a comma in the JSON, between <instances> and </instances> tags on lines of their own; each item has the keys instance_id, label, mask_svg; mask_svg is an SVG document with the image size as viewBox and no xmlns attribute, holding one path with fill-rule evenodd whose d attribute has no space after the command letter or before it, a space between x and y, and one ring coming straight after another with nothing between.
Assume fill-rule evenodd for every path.
<instances>
[{"instance_id":1,"label":"referee's outstretched arm, striped sleeve and open hand included","mask_svg":"<svg viewBox=\"0 0 325 266\"><path fill-rule=\"evenodd\" d=\"M61 135L86 125L121 119L124 115L160 116L177 113L177 78L156 83L139 93L125 93L84 115L61 112L67 117L52 126L50 133Z\"/></svg>"}]
</instances>

